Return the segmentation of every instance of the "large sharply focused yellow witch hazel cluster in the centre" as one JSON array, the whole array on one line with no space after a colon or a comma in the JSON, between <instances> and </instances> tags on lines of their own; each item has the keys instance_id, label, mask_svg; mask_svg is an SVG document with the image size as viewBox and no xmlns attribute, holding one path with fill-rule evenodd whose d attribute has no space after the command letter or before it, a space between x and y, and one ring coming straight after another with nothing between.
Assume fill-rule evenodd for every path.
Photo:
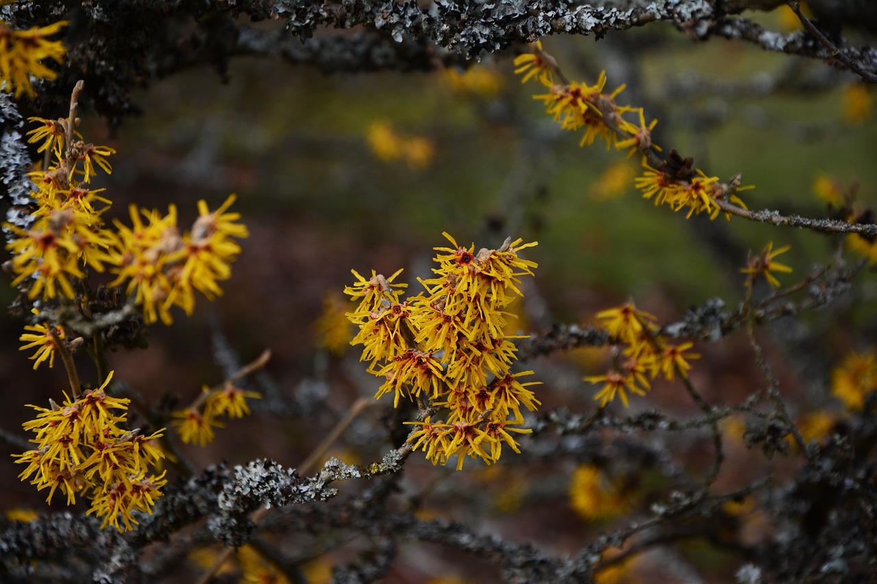
<instances>
[{"instance_id":1,"label":"large sharply focused yellow witch hazel cluster in the centre","mask_svg":"<svg viewBox=\"0 0 877 584\"><path fill-rule=\"evenodd\" d=\"M532 374L510 373L516 347L503 333L510 303L523 296L519 277L532 275L536 263L518 253L535 243L506 239L498 249L437 247L436 277L421 280L425 292L402 300L405 284L372 272L369 279L355 271L357 281L345 293L358 300L348 314L360 327L353 345L364 345L361 360L369 372L384 378L375 397L393 393L419 400L424 409L439 409L417 425L409 440L432 464L445 465L457 456L496 462L503 444L518 451L513 433L527 433L522 407L536 410L539 402L520 379Z\"/></svg>"}]
</instances>

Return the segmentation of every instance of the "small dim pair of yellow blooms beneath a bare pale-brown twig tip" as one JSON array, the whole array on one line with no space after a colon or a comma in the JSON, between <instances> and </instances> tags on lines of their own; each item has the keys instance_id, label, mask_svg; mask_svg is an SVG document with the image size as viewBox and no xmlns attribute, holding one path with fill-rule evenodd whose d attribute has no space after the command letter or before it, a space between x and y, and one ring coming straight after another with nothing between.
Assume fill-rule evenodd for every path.
<instances>
[{"instance_id":1,"label":"small dim pair of yellow blooms beneath a bare pale-brown twig tip","mask_svg":"<svg viewBox=\"0 0 877 584\"><path fill-rule=\"evenodd\" d=\"M250 415L246 398L261 399L257 391L248 391L226 382L219 388L203 387L198 399L185 410L172 412L171 422L185 444L208 445L213 442L214 428L222 428L217 417L239 418Z\"/></svg>"}]
</instances>

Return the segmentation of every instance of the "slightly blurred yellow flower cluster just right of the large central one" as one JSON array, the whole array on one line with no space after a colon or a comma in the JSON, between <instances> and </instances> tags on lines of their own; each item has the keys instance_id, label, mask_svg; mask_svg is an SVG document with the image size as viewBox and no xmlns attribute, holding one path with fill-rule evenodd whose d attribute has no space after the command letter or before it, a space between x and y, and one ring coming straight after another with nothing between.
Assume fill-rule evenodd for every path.
<instances>
[{"instance_id":1,"label":"slightly blurred yellow flower cluster just right of the large central one","mask_svg":"<svg viewBox=\"0 0 877 584\"><path fill-rule=\"evenodd\" d=\"M645 395L652 388L650 379L659 375L664 375L667 381L673 381L676 374L688 378L691 368L688 360L700 358L697 353L686 353L694 345L691 342L667 343L658 333L660 327L655 324L655 317L638 310L632 301L598 312L597 319L613 341L621 345L620 356L624 358L617 359L607 374L585 377L585 381L603 384L594 396L600 407L615 400L617 395L626 408L629 405L626 392Z\"/></svg>"}]
</instances>

